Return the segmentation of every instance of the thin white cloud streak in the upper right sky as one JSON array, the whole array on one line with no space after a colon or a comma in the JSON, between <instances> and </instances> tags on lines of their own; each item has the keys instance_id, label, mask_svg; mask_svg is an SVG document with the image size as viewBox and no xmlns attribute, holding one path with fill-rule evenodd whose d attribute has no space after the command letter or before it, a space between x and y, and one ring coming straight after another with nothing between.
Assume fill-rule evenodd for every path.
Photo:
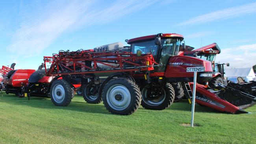
<instances>
[{"instance_id":1,"label":"thin white cloud streak in the upper right sky","mask_svg":"<svg viewBox=\"0 0 256 144\"><path fill-rule=\"evenodd\" d=\"M249 15L249 14L253 14L253 13L256 13L256 2L250 3L250 4L245 4L243 6L230 7L227 9L200 15L198 17L194 17L194 18L191 18L191 19L184 21L180 24L177 24L177 26L186 26L186 25L191 25L191 24L212 22L215 20L239 17L239 16Z\"/></svg>"}]
</instances>

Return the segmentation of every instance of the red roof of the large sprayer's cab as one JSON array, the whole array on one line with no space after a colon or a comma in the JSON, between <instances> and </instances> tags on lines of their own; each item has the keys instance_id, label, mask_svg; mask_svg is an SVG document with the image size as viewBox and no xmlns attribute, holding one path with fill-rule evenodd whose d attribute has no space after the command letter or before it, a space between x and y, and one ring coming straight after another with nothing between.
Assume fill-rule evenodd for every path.
<instances>
[{"instance_id":1,"label":"red roof of the large sprayer's cab","mask_svg":"<svg viewBox=\"0 0 256 144\"><path fill-rule=\"evenodd\" d=\"M148 36L144 36L144 37L137 37L137 38L134 38L134 39L129 39L127 41L128 44L131 44L131 43L134 43L136 41L144 41L144 40L147 40L147 39L154 39L156 37L156 35L148 35ZM161 37L171 37L171 38L178 38L178 39L181 39L183 40L183 35L180 35L180 34L177 34L177 33L163 33L163 36Z\"/></svg>"}]
</instances>

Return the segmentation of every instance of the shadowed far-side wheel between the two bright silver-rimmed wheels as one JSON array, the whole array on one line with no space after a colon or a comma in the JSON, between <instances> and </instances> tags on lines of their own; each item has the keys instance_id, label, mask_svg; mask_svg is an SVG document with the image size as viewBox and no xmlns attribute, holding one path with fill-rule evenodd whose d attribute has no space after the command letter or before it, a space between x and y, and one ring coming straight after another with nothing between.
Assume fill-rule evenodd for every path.
<instances>
[{"instance_id":1,"label":"shadowed far-side wheel between the two bright silver-rimmed wheels","mask_svg":"<svg viewBox=\"0 0 256 144\"><path fill-rule=\"evenodd\" d=\"M82 88L83 99L87 103L98 104L102 101L102 97L99 96L98 85L89 84Z\"/></svg>"}]
</instances>

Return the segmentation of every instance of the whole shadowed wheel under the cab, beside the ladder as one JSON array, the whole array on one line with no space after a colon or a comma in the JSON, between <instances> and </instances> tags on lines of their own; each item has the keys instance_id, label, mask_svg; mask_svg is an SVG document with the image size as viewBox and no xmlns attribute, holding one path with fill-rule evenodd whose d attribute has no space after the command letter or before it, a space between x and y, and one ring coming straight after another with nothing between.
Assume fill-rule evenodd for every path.
<instances>
[{"instance_id":1,"label":"whole shadowed wheel under the cab, beside the ladder","mask_svg":"<svg viewBox=\"0 0 256 144\"><path fill-rule=\"evenodd\" d=\"M142 91L141 105L145 109L163 110L168 108L174 101L174 90L170 83L160 85L147 85Z\"/></svg>"}]
</instances>

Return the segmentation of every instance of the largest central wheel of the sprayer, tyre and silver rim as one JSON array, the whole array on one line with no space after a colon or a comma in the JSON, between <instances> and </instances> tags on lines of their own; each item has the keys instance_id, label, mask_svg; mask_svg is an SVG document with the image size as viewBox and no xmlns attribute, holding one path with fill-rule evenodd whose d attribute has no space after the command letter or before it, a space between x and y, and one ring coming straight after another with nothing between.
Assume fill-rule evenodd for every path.
<instances>
[{"instance_id":1,"label":"largest central wheel of the sprayer, tyre and silver rim","mask_svg":"<svg viewBox=\"0 0 256 144\"><path fill-rule=\"evenodd\" d=\"M113 114L130 115L141 102L139 87L130 79L111 79L103 88L102 100L106 109Z\"/></svg>"}]
</instances>

